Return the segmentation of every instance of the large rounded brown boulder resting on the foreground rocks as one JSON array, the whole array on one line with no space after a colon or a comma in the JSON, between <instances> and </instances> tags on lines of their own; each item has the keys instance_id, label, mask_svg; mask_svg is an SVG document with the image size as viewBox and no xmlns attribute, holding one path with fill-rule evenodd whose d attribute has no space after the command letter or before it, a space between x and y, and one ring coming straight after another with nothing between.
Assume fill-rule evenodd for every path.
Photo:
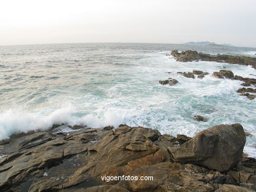
<instances>
[{"instance_id":1,"label":"large rounded brown boulder resting on the foreground rocks","mask_svg":"<svg viewBox=\"0 0 256 192\"><path fill-rule=\"evenodd\" d=\"M211 126L177 147L172 155L182 163L201 164L224 172L240 161L245 140L240 124Z\"/></svg>"}]
</instances>

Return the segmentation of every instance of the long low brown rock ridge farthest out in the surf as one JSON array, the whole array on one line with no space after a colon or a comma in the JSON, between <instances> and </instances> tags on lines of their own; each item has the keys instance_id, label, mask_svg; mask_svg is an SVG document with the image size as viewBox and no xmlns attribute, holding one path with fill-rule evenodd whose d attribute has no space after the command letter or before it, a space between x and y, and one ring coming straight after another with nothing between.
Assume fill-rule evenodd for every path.
<instances>
[{"instance_id":1,"label":"long low brown rock ridge farthest out in the surf","mask_svg":"<svg viewBox=\"0 0 256 192\"><path fill-rule=\"evenodd\" d=\"M256 69L256 58L251 58L249 56L234 56L227 54L205 54L197 52L196 50L186 50L178 52L178 50L173 50L171 55L176 58L178 62L194 62L194 61L209 61L209 62L225 62L228 64L240 64L244 66L252 66Z\"/></svg>"}]
</instances>

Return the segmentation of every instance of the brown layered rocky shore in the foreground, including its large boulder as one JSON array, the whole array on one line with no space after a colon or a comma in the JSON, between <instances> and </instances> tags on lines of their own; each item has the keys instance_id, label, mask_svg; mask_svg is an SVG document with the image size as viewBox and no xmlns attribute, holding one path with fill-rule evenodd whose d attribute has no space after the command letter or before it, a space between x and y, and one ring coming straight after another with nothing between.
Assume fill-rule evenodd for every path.
<instances>
[{"instance_id":1,"label":"brown layered rocky shore in the foreground, including its large boulder","mask_svg":"<svg viewBox=\"0 0 256 192\"><path fill-rule=\"evenodd\" d=\"M240 124L193 138L121 125L34 132L0 145L0 191L253 191L256 161L242 157ZM103 176L154 180L103 181Z\"/></svg>"}]
</instances>

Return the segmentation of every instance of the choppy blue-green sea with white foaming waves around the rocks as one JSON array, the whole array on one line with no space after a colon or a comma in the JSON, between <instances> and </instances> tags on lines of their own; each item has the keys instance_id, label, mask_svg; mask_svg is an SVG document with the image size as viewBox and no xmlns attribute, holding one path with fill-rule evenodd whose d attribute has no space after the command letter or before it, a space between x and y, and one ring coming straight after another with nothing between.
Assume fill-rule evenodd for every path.
<instances>
[{"instance_id":1,"label":"choppy blue-green sea with white foaming waves around the rocks","mask_svg":"<svg viewBox=\"0 0 256 192\"><path fill-rule=\"evenodd\" d=\"M81 43L0 47L0 140L54 123L90 127L146 126L194 136L219 124L251 133L245 152L256 157L256 100L236 93L241 81L189 79L178 71L230 69L256 78L251 66L176 62L173 49L255 56L256 48L139 43ZM159 80L177 79L175 86ZM203 115L207 122L194 121Z\"/></svg>"}]
</instances>

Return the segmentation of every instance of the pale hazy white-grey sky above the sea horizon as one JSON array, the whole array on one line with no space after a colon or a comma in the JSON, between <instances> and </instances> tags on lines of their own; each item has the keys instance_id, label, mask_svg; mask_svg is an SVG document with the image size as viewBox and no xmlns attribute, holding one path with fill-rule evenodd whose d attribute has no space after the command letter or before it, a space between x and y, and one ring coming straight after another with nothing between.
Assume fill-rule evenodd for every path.
<instances>
[{"instance_id":1,"label":"pale hazy white-grey sky above the sea horizon","mask_svg":"<svg viewBox=\"0 0 256 192\"><path fill-rule=\"evenodd\" d=\"M256 1L0 1L0 45L189 41L256 47Z\"/></svg>"}]
</instances>

